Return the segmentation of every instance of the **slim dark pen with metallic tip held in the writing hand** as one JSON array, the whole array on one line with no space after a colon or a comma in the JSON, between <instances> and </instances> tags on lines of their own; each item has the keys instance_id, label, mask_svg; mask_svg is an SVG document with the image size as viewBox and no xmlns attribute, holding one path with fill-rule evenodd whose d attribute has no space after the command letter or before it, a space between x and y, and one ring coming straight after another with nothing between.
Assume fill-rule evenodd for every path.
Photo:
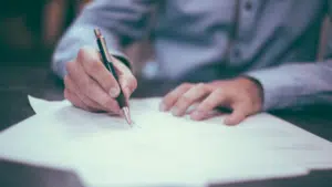
<instances>
[{"instance_id":1,"label":"slim dark pen with metallic tip held in the writing hand","mask_svg":"<svg viewBox=\"0 0 332 187\"><path fill-rule=\"evenodd\" d=\"M102 32L101 32L100 29L94 29L94 34L96 37L97 45L98 45L100 51L101 51L102 62L105 65L105 67L113 74L113 76L115 77L115 80L116 80L116 82L117 82L117 84L120 86L118 76L117 76L116 71L115 71L115 69L113 66L112 58L111 58L111 55L108 53L105 38L102 35ZM132 125L132 118L131 118L129 107L128 107L128 105L126 103L126 100L125 100L125 96L123 94L123 91L122 91L121 86L120 86L120 94L116 97L116 101L118 103L120 108L123 112L123 115L124 115L126 122L128 123L128 125Z\"/></svg>"}]
</instances>

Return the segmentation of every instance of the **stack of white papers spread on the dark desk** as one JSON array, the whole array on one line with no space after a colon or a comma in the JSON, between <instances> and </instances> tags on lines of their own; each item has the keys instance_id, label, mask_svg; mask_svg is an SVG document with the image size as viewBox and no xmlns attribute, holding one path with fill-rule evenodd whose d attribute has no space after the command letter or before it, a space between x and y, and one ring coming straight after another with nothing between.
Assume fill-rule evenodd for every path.
<instances>
[{"instance_id":1,"label":"stack of white papers spread on the dark desk","mask_svg":"<svg viewBox=\"0 0 332 187\"><path fill-rule=\"evenodd\" d=\"M133 100L135 127L68 101L29 97L37 115L0 134L0 157L72 169L86 186L204 186L332 168L332 144L269 114L238 126L158 112ZM314 124L313 124L314 125Z\"/></svg>"}]
</instances>

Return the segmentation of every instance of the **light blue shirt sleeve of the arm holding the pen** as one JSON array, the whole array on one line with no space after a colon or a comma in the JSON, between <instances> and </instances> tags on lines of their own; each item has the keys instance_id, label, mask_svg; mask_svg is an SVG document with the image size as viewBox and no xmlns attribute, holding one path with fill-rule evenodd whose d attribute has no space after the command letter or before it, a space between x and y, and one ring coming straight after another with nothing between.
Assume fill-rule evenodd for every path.
<instances>
[{"instance_id":1,"label":"light blue shirt sleeve of the arm holding the pen","mask_svg":"<svg viewBox=\"0 0 332 187\"><path fill-rule=\"evenodd\" d=\"M66 74L65 63L74 59L83 45L97 49L93 29L101 29L111 54L129 64L122 48L147 33L154 0L96 0L84 8L58 43L52 70Z\"/></svg>"}]
</instances>

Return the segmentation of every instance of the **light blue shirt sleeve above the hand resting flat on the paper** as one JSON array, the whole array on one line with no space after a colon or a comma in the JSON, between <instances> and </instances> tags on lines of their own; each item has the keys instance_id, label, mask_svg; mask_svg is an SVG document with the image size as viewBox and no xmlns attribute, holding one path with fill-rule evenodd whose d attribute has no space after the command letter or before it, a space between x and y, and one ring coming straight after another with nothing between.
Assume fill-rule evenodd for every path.
<instances>
[{"instance_id":1,"label":"light blue shirt sleeve above the hand resting flat on the paper","mask_svg":"<svg viewBox=\"0 0 332 187\"><path fill-rule=\"evenodd\" d=\"M264 111L332 104L332 61L281 65L247 75L260 82Z\"/></svg>"}]
</instances>

